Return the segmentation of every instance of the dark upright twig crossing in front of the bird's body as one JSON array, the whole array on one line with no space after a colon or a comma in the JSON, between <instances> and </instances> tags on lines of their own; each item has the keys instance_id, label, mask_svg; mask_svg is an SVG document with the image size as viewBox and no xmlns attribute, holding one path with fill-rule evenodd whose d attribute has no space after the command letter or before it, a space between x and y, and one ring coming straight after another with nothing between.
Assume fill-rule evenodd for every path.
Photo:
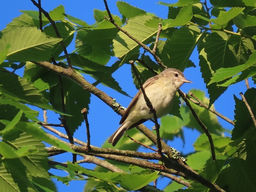
<instances>
[{"instance_id":1,"label":"dark upright twig crossing in front of the bird's body","mask_svg":"<svg viewBox=\"0 0 256 192\"><path fill-rule=\"evenodd\" d=\"M146 92L145 92L145 90L144 90L144 88L143 88L143 85L142 85L142 83L141 83L141 81L140 81L140 77L139 77L139 75L138 75L138 73L137 73L137 71L136 71L136 69L135 69L135 67L134 67L134 61L131 60L131 61L129 61L129 63L131 64L132 69L133 69L133 71L134 71L134 74L135 74L136 78L138 79L138 82L139 82L139 84L140 84L141 92L142 92L142 94L143 94L143 96L144 96L144 99L145 99L145 101L146 101L146 104L147 104L148 108L150 109L150 110L149 110L149 113L153 113L154 121L155 121L155 126L156 126L157 152L158 152L159 155L162 156L162 155L163 155L163 154L162 154L162 145L161 145L161 138L160 138L160 132L159 132L160 125L159 125L158 122L157 122L156 110L155 110L155 108L153 107L153 105L152 105L152 103L150 102L150 100L148 99L148 96L146 95Z\"/></svg>"}]
</instances>

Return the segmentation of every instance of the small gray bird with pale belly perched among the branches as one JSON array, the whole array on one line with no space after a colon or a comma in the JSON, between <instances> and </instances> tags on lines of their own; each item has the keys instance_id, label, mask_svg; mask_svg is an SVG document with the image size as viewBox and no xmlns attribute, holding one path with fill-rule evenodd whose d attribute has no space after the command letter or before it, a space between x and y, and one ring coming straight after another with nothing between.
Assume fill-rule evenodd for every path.
<instances>
[{"instance_id":1,"label":"small gray bird with pale belly perched among the branches","mask_svg":"<svg viewBox=\"0 0 256 192\"><path fill-rule=\"evenodd\" d=\"M192 81L187 80L180 70L168 68L160 74L149 78L143 84L145 93L156 110L157 118L171 111L173 98L183 83L192 83ZM128 129L153 118L153 114L150 114L149 110L140 89L124 112L119 123L122 125L110 136L108 142L115 146Z\"/></svg>"}]
</instances>

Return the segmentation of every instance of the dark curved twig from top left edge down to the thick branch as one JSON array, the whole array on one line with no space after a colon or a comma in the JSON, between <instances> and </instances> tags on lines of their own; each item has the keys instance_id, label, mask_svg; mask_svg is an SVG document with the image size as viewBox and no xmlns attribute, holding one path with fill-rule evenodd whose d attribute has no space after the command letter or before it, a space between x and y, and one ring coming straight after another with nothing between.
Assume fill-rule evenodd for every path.
<instances>
[{"instance_id":1,"label":"dark curved twig from top left edge down to the thick branch","mask_svg":"<svg viewBox=\"0 0 256 192\"><path fill-rule=\"evenodd\" d=\"M56 33L56 36L59 37L59 38L61 38L60 33L59 33L59 31L58 31L58 28L56 27L56 24L55 24L54 20L52 20L52 18L50 17L49 13L46 12L38 3L36 3L35 0L30 0L30 1L31 1L31 2L39 9L39 11L41 11L41 12L44 14L44 16L50 21L50 23L52 24L52 27L53 27L53 29L54 29L54 31L55 31L55 33ZM68 51L67 51L67 49L66 49L66 46L65 46L63 40L60 41L60 44L61 44L61 46L62 46L62 49L63 49L64 53L65 53L65 56L66 56L66 59L67 59L67 62L68 62L68 68L72 69L71 61L70 61L70 58L69 58L69 56L68 56Z\"/></svg>"}]
</instances>

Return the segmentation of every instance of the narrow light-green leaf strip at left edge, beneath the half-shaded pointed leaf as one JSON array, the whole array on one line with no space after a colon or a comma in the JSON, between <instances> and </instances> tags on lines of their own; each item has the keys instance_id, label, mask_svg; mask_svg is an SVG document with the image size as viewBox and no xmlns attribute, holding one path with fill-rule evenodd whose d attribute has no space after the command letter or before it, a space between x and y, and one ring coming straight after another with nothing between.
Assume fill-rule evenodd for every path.
<instances>
[{"instance_id":1,"label":"narrow light-green leaf strip at left edge, beneath the half-shaded pointed leaf","mask_svg":"<svg viewBox=\"0 0 256 192\"><path fill-rule=\"evenodd\" d=\"M39 112L30 109L28 106L26 106L24 104L15 102L11 99L3 98L3 99L0 99L0 105L14 106L16 109L22 110L24 113L24 116L27 117L28 119L33 120L33 121L38 121L38 119L36 117L38 116Z\"/></svg>"}]
</instances>

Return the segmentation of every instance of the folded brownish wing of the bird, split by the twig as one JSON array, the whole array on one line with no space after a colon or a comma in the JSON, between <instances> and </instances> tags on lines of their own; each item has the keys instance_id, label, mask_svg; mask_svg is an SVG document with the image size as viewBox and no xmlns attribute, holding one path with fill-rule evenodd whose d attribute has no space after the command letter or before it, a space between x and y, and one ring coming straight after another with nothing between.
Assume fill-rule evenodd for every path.
<instances>
[{"instance_id":1,"label":"folded brownish wing of the bird, split by the twig","mask_svg":"<svg viewBox=\"0 0 256 192\"><path fill-rule=\"evenodd\" d=\"M148 87L149 85L153 84L158 78L159 78L159 76L157 75L157 76L151 77L151 78L149 78L147 81L145 81L145 83L143 84L144 90L146 89L146 87ZM131 103L128 105L126 111L124 112L124 115L122 116L122 118L121 118L119 124L124 123L125 119L126 119L127 116L129 115L130 109L131 109L132 106L136 103L136 101L138 100L140 94L142 94L141 89L140 89L140 90L137 92L137 94L133 97Z\"/></svg>"}]
</instances>

